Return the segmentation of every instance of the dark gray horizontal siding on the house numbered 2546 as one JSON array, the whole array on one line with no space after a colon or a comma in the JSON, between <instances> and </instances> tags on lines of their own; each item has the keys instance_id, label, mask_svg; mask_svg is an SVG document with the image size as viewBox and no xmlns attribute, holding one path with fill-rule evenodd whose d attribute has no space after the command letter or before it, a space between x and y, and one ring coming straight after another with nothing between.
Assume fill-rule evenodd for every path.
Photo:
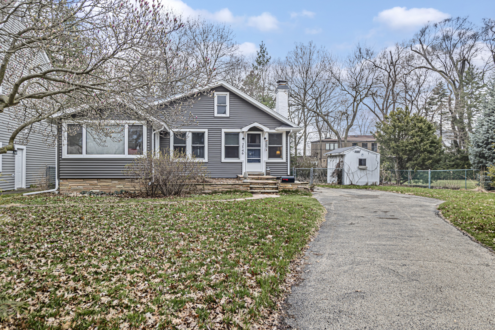
<instances>
[{"instance_id":1,"label":"dark gray horizontal siding on the house numbered 2546","mask_svg":"<svg viewBox=\"0 0 495 330\"><path fill-rule=\"evenodd\" d=\"M191 111L195 117L198 117L198 125L191 128L204 128L208 130L208 162L206 163L208 174L213 178L235 178L237 175L243 174L242 162L222 163L222 129L241 129L253 122L258 122L270 129L287 127L287 124L282 123L224 87L218 87L214 90L215 92L229 92L230 116L215 117L213 97L200 95L198 102L188 110ZM164 109L163 111L166 110ZM148 129L148 149L150 146L150 134L151 130ZM286 139L286 142L288 142L288 139ZM167 134L166 137L161 136L160 149L165 150L169 147L169 134ZM287 159L289 159L289 156L287 154L286 145L286 162L267 162L267 164L274 175L287 175ZM122 170L124 165L128 162L128 159L116 158L62 158L60 160L60 178L123 178L124 175L122 174Z\"/></svg>"}]
</instances>

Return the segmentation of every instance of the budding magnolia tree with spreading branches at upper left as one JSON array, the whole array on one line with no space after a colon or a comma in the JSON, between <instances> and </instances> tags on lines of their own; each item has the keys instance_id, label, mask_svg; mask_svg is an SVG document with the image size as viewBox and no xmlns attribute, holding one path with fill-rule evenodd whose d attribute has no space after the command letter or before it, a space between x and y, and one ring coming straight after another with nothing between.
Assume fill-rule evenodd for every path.
<instances>
[{"instance_id":1,"label":"budding magnolia tree with spreading branches at upper left","mask_svg":"<svg viewBox=\"0 0 495 330\"><path fill-rule=\"evenodd\" d=\"M54 142L42 121L71 120L104 137L123 117L191 125L192 98L167 102L214 76L208 52L192 56L194 36L155 0L7 0L0 17L0 113L11 131L0 154L33 132Z\"/></svg>"}]
</instances>

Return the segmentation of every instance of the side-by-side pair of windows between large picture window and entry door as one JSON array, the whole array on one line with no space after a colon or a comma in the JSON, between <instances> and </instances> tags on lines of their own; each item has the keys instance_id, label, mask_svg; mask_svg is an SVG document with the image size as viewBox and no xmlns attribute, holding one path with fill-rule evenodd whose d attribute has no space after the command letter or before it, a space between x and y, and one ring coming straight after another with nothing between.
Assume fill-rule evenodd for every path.
<instances>
[{"instance_id":1,"label":"side-by-side pair of windows between large picture window and entry door","mask_svg":"<svg viewBox=\"0 0 495 330\"><path fill-rule=\"evenodd\" d=\"M196 159L208 160L208 130L191 129L172 134L172 150L194 155Z\"/></svg>"}]
</instances>

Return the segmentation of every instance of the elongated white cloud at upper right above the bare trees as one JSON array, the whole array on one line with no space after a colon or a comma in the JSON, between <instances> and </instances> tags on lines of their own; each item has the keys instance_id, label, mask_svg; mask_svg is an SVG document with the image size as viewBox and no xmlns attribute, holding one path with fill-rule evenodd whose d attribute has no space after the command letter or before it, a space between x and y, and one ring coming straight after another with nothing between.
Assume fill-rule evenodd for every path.
<instances>
[{"instance_id":1,"label":"elongated white cloud at upper right above the bare trees","mask_svg":"<svg viewBox=\"0 0 495 330\"><path fill-rule=\"evenodd\" d=\"M383 23L392 29L414 29L429 21L439 22L449 17L450 14L435 8L394 7L379 12L373 21Z\"/></svg>"}]
</instances>

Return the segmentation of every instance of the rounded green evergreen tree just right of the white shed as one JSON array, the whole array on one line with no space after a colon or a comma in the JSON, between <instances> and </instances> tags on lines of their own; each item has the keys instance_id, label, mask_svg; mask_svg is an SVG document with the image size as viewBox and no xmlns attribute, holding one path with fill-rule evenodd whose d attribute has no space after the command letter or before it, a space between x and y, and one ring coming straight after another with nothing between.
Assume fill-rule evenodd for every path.
<instances>
[{"instance_id":1,"label":"rounded green evergreen tree just right of the white shed","mask_svg":"<svg viewBox=\"0 0 495 330\"><path fill-rule=\"evenodd\" d=\"M377 122L373 136L380 143L380 153L397 169L428 170L441 159L442 141L425 117L397 108L385 119Z\"/></svg>"}]
</instances>

